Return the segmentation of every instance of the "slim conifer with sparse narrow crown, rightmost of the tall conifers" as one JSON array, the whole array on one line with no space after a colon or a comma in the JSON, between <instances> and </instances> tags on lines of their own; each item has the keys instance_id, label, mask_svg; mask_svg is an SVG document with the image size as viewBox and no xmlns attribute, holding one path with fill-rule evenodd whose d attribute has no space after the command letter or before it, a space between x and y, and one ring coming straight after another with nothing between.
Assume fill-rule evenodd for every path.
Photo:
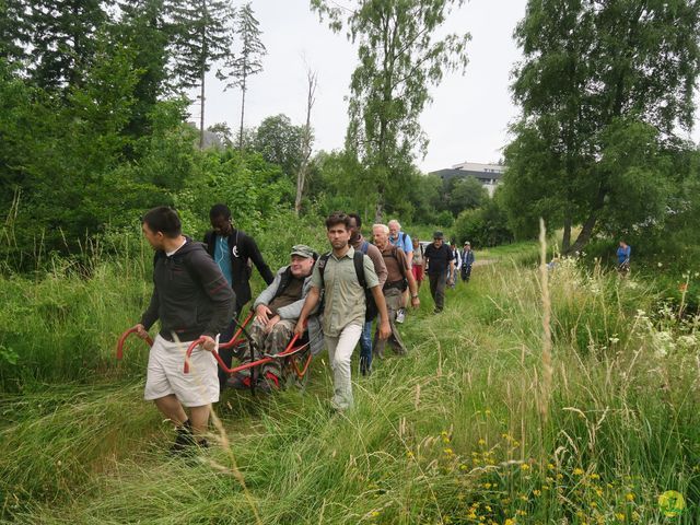
<instances>
[{"instance_id":1,"label":"slim conifer with sparse narrow crown, rightmost of the tall conifers","mask_svg":"<svg viewBox=\"0 0 700 525\"><path fill-rule=\"evenodd\" d=\"M245 115L245 94L248 90L248 77L262 71L262 57L267 49L260 40L262 32L259 30L259 22L253 14L250 3L246 3L237 13L235 23L235 34L241 40L241 55L231 56L226 62L224 71L219 73L222 80L233 79L226 88L241 88L241 126L238 131L238 149L243 149L243 121Z\"/></svg>"}]
</instances>

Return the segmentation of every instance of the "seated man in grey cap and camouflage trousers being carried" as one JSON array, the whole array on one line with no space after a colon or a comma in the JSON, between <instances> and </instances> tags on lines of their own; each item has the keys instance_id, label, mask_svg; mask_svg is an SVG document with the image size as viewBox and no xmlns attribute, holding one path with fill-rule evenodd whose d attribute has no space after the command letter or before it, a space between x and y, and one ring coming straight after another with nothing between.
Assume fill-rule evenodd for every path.
<instances>
[{"instance_id":1,"label":"seated man in grey cap and camouflage trousers being carried","mask_svg":"<svg viewBox=\"0 0 700 525\"><path fill-rule=\"evenodd\" d=\"M264 354L280 353L294 335L294 326L311 289L316 254L308 246L298 244L290 256L290 265L280 268L272 283L255 300L255 319L247 330L253 345L248 345L242 363L259 360ZM320 323L316 316L312 316L307 326L311 350L316 354L323 350ZM255 351L250 351L250 347L255 347ZM270 393L280 387L281 377L282 362L272 360L261 366L255 386L260 392ZM248 369L233 374L226 384L232 388L248 388L252 381Z\"/></svg>"}]
</instances>

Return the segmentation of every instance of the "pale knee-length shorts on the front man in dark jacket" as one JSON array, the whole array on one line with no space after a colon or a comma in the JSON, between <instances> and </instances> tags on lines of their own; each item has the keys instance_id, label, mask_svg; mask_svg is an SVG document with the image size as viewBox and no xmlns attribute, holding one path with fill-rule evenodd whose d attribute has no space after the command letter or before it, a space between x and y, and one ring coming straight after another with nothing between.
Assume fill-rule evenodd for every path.
<instances>
[{"instance_id":1,"label":"pale knee-length shorts on the front man in dark jacket","mask_svg":"<svg viewBox=\"0 0 700 525\"><path fill-rule=\"evenodd\" d=\"M151 401L175 394L185 407L201 407L219 400L217 361L211 352L195 348L189 373L183 372L188 342L170 342L160 335L149 353L143 399Z\"/></svg>"}]
</instances>

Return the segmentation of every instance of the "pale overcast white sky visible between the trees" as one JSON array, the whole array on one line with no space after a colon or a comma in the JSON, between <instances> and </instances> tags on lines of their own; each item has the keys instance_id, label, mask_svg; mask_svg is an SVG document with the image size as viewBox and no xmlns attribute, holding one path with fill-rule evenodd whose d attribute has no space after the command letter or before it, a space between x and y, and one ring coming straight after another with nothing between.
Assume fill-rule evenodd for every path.
<instances>
[{"instance_id":1,"label":"pale overcast white sky visible between the trees","mask_svg":"<svg viewBox=\"0 0 700 525\"><path fill-rule=\"evenodd\" d=\"M303 124L308 65L318 73L312 113L314 150L342 148L348 124L345 97L357 65L355 48L345 33L335 34L319 22L308 0L253 0L252 4L268 54L264 71L249 79L245 125L257 126L265 117L280 113L295 125ZM525 14L525 4L526 0L470 0L453 10L443 32L471 34L469 65L465 74L447 74L431 90L433 103L421 117L430 144L425 159L417 161L423 172L465 161L497 162L502 156L508 126L517 115L509 85L521 55L512 35ZM206 126L226 121L237 130L241 92L224 92L210 74L206 110ZM199 107L192 107L192 112L198 113ZM693 136L697 142L698 129Z\"/></svg>"}]
</instances>

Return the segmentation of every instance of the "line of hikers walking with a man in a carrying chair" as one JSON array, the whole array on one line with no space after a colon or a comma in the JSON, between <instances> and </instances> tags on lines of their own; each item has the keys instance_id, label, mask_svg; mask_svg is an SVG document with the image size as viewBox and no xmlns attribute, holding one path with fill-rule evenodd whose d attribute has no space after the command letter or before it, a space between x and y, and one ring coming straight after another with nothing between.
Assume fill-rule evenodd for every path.
<instances>
[{"instance_id":1,"label":"line of hikers walking with a man in a carrying chair","mask_svg":"<svg viewBox=\"0 0 700 525\"><path fill-rule=\"evenodd\" d=\"M428 275L434 312L444 308L445 285L456 281L457 269L469 280L474 254L469 243L458 252L444 243L442 232L423 246L401 232L397 221L374 224L370 243L362 235L355 213L335 212L326 219L330 252L319 255L310 246L294 245L289 264L272 273L255 240L234 228L231 210L215 205L210 210L212 229L205 243L183 235L175 210L159 207L142 218L142 231L155 250L153 293L147 311L133 327L143 339L160 320L160 331L149 354L144 399L176 427L175 453L208 446L205 438L211 404L228 386L271 393L280 387L278 359L258 373L244 370L228 376L211 354L219 343L232 339L237 316L252 299L254 265L267 288L253 303L247 327L249 343L238 357L252 362L276 355L296 334L308 340L312 354L324 348L334 374L335 410L353 405L351 357L360 345L360 372L372 372L373 358L383 358L388 347L405 354L397 328L405 307L420 306L419 289ZM458 260L458 262L456 262ZM373 324L376 322L374 335ZM191 374L183 372L184 349L200 340L190 359ZM231 366L234 350L221 349ZM189 410L189 415L185 411Z\"/></svg>"}]
</instances>

